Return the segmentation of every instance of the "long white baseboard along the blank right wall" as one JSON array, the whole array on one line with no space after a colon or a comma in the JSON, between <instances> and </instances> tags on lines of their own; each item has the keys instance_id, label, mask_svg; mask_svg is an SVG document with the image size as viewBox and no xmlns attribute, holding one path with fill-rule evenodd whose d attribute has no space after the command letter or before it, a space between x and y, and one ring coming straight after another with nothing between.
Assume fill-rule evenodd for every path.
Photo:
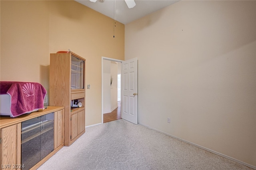
<instances>
[{"instance_id":1,"label":"long white baseboard along the blank right wall","mask_svg":"<svg viewBox=\"0 0 256 170\"><path fill-rule=\"evenodd\" d=\"M237 159L235 159L235 158L232 158L232 157L230 157L230 156L227 156L227 155L221 154L221 153L216 152L216 151L214 151L214 150L210 150L210 149L208 149L208 148L204 148L203 146L200 146L200 145L194 144L194 143L192 143L192 142L188 142L188 141L183 140L183 139L181 139L181 138L178 138L178 137L176 137L176 136L172 136L172 135L167 134L167 133L165 133L165 132L162 132L162 131L160 131L160 130L157 130L157 129L151 128L150 126L146 126L146 125L144 125L144 124L140 124L140 125L145 126L145 127L147 127L147 128L150 128L150 129L152 129L152 130L156 130L156 131L158 131L158 132L161 132L161 133L163 133L163 134L166 134L167 136L171 136L172 138L175 138L175 139L181 140L181 141L186 142L186 143L188 143L188 144L192 144L192 145L194 145L194 146L196 146L196 147L198 147L198 148L201 148L201 149L207 150L207 151L209 151L209 152L212 152L212 153L217 154L217 155L219 155L219 156L222 156L222 157L224 157L224 158L228 158L229 160L233 160L233 161L235 161L235 162L238 162L238 163L240 163L240 164L243 164L243 165L245 165L245 166L248 166L248 167L253 168L253 169L255 169L255 170L256 170L256 166L253 166L253 165L247 164L247 163L245 163L245 162L242 162L242 161L237 160Z\"/></svg>"}]
</instances>

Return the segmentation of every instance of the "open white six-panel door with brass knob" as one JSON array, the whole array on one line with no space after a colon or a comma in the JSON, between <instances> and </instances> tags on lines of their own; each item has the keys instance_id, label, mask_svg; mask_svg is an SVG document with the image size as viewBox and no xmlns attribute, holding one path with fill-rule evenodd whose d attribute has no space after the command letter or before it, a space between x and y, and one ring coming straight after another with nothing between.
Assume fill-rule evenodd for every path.
<instances>
[{"instance_id":1,"label":"open white six-panel door with brass knob","mask_svg":"<svg viewBox=\"0 0 256 170\"><path fill-rule=\"evenodd\" d=\"M138 58L122 62L122 118L138 124Z\"/></svg>"}]
</instances>

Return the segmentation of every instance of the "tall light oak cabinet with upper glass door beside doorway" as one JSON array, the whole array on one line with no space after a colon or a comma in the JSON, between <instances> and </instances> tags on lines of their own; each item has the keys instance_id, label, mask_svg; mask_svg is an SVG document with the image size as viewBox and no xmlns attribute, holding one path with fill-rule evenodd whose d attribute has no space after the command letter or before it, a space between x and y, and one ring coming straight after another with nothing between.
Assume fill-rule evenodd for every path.
<instances>
[{"instance_id":1,"label":"tall light oak cabinet with upper glass door beside doorway","mask_svg":"<svg viewBox=\"0 0 256 170\"><path fill-rule=\"evenodd\" d=\"M64 106L64 146L70 146L85 132L85 59L74 54L50 54L51 106ZM73 107L73 102L82 107Z\"/></svg>"}]
</instances>

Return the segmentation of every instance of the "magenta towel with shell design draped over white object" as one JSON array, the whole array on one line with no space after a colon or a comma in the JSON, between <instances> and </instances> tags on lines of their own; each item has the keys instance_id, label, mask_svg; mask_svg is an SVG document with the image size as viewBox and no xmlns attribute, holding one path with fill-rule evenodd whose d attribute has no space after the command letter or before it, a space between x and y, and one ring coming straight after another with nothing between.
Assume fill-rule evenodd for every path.
<instances>
[{"instance_id":1,"label":"magenta towel with shell design draped over white object","mask_svg":"<svg viewBox=\"0 0 256 170\"><path fill-rule=\"evenodd\" d=\"M13 117L44 108L45 88L35 82L0 82L0 94L11 96Z\"/></svg>"}]
</instances>

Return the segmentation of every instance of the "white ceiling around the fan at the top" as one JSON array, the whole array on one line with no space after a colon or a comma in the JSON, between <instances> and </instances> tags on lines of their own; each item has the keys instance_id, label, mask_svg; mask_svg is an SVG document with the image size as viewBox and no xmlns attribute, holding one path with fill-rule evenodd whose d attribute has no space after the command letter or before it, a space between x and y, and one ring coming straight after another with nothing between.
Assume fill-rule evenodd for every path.
<instances>
[{"instance_id":1,"label":"white ceiling around the fan at the top","mask_svg":"<svg viewBox=\"0 0 256 170\"><path fill-rule=\"evenodd\" d=\"M136 6L128 8L124 0L75 0L93 10L96 10L122 24L128 24L152 12L178 2L178 0L135 0ZM104 2L102 2L104 1ZM114 7L116 12L114 14Z\"/></svg>"}]
</instances>

